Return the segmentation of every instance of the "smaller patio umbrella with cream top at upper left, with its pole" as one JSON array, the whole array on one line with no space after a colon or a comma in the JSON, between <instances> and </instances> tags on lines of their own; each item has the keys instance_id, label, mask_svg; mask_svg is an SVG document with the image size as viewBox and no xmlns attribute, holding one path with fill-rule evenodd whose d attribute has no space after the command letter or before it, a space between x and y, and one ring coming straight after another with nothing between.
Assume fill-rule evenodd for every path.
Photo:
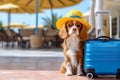
<instances>
[{"instance_id":1,"label":"smaller patio umbrella with cream top at upper left, with its pole","mask_svg":"<svg viewBox=\"0 0 120 80\"><path fill-rule=\"evenodd\" d=\"M41 10L39 9L39 12ZM11 3L8 3L8 4L3 4L3 5L0 5L0 12L6 12L8 13L8 25L10 24L10 15L11 13L14 13L14 14L18 14L18 13L35 13L35 10L34 9L30 9L30 8L26 8L26 7L19 7L17 5L14 5L14 4L11 4ZM8 26L9 28L9 26Z\"/></svg>"}]
</instances>

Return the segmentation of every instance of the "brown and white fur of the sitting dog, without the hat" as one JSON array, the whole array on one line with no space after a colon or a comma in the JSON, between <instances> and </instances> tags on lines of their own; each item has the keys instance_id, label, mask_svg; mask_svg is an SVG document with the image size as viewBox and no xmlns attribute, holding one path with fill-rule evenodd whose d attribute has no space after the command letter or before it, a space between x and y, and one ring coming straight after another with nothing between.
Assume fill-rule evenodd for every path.
<instances>
[{"instance_id":1,"label":"brown and white fur of the sitting dog, without the hat","mask_svg":"<svg viewBox=\"0 0 120 80\"><path fill-rule=\"evenodd\" d=\"M67 76L83 75L83 42L87 39L86 28L78 21L67 21L59 36L64 39L64 61L60 72Z\"/></svg>"}]
</instances>

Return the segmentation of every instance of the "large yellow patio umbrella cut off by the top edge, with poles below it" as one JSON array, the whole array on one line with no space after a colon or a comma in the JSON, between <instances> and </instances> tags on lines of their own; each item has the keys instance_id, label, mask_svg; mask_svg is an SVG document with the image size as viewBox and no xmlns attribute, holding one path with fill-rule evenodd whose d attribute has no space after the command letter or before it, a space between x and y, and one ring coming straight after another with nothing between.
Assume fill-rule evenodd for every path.
<instances>
[{"instance_id":1,"label":"large yellow patio umbrella cut off by the top edge, with poles below it","mask_svg":"<svg viewBox=\"0 0 120 80\"><path fill-rule=\"evenodd\" d=\"M53 19L53 8L62 8L67 6L72 6L77 3L80 3L82 0L12 0L14 4L19 6L26 6L30 8L36 8L36 18L38 18L37 9L51 9L52 23ZM36 19L36 24L38 20ZM53 26L53 25L52 25ZM37 27L37 25L36 25Z\"/></svg>"}]
</instances>

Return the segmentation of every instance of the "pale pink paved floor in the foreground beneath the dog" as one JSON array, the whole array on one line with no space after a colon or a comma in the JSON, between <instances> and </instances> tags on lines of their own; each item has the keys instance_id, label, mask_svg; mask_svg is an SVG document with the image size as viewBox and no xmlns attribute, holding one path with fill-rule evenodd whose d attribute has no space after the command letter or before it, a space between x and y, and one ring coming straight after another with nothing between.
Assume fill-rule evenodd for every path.
<instances>
[{"instance_id":1,"label":"pale pink paved floor in the foreground beneath the dog","mask_svg":"<svg viewBox=\"0 0 120 80\"><path fill-rule=\"evenodd\" d=\"M88 80L84 76L64 76L58 71L0 70L0 80Z\"/></svg>"}]
</instances>

